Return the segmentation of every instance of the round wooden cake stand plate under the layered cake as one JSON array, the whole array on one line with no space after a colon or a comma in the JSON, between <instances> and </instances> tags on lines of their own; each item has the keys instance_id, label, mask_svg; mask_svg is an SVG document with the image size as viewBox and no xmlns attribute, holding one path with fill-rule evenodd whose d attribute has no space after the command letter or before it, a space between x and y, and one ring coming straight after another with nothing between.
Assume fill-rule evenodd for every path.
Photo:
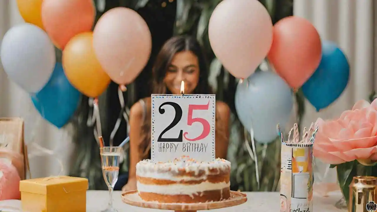
<instances>
[{"instance_id":1,"label":"round wooden cake stand plate under the layered cake","mask_svg":"<svg viewBox=\"0 0 377 212\"><path fill-rule=\"evenodd\" d=\"M139 197L137 190L132 190L122 194L122 201L126 204L153 208L153 209L162 209L162 210L175 210L175 212L196 212L197 210L210 210L210 209L219 209L223 207L236 206L247 201L246 194L242 194L237 191L230 191L230 199L222 200L218 202L209 202L209 203L157 203L157 202L148 202L144 201Z\"/></svg>"}]
</instances>

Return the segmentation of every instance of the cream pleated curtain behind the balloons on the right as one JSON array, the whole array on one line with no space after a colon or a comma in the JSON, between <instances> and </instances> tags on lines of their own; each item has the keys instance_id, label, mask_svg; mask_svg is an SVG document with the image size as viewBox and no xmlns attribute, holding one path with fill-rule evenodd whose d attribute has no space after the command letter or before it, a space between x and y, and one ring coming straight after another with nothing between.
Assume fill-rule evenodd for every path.
<instances>
[{"instance_id":1,"label":"cream pleated curtain behind the balloons on the right","mask_svg":"<svg viewBox=\"0 0 377 212\"><path fill-rule=\"evenodd\" d=\"M376 89L375 5L373 0L294 0L294 15L313 23L322 40L336 42L347 55L351 66L349 84L335 103L320 112L316 112L308 101L305 103L305 126L318 117L339 117L343 111L351 109L356 101L368 100L369 94ZM323 170L325 165L321 167ZM335 179L333 169L328 180Z\"/></svg>"}]
</instances>

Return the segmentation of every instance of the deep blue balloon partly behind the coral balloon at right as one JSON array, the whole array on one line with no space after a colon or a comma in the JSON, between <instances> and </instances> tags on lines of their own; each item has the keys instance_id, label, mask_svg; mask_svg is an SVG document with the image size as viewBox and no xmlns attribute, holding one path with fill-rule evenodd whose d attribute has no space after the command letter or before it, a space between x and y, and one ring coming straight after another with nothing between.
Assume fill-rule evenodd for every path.
<instances>
[{"instance_id":1,"label":"deep blue balloon partly behind the coral balloon at right","mask_svg":"<svg viewBox=\"0 0 377 212\"><path fill-rule=\"evenodd\" d=\"M349 81L346 55L331 41L322 41L321 62L302 92L317 111L326 108L342 94Z\"/></svg>"}]
</instances>

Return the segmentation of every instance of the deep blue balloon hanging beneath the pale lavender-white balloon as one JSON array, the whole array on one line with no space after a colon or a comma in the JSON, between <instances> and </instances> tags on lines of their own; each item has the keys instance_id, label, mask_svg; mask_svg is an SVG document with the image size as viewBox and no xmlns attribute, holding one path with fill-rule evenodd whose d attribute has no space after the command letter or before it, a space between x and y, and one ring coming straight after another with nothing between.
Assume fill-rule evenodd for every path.
<instances>
[{"instance_id":1,"label":"deep blue balloon hanging beneath the pale lavender-white balloon","mask_svg":"<svg viewBox=\"0 0 377 212\"><path fill-rule=\"evenodd\" d=\"M80 92L67 80L61 63L56 63L48 83L31 100L44 119L61 128L75 113Z\"/></svg>"}]
</instances>

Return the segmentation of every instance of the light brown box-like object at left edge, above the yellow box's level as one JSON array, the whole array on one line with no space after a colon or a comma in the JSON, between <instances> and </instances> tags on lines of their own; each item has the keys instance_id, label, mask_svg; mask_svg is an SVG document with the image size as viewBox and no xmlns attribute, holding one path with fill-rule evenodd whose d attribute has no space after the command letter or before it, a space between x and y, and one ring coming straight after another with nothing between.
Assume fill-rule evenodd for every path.
<instances>
[{"instance_id":1,"label":"light brown box-like object at left edge, above the yellow box's level","mask_svg":"<svg viewBox=\"0 0 377 212\"><path fill-rule=\"evenodd\" d=\"M10 160L17 168L21 180L26 179L29 160L22 118L0 118L0 159Z\"/></svg>"}]
</instances>

